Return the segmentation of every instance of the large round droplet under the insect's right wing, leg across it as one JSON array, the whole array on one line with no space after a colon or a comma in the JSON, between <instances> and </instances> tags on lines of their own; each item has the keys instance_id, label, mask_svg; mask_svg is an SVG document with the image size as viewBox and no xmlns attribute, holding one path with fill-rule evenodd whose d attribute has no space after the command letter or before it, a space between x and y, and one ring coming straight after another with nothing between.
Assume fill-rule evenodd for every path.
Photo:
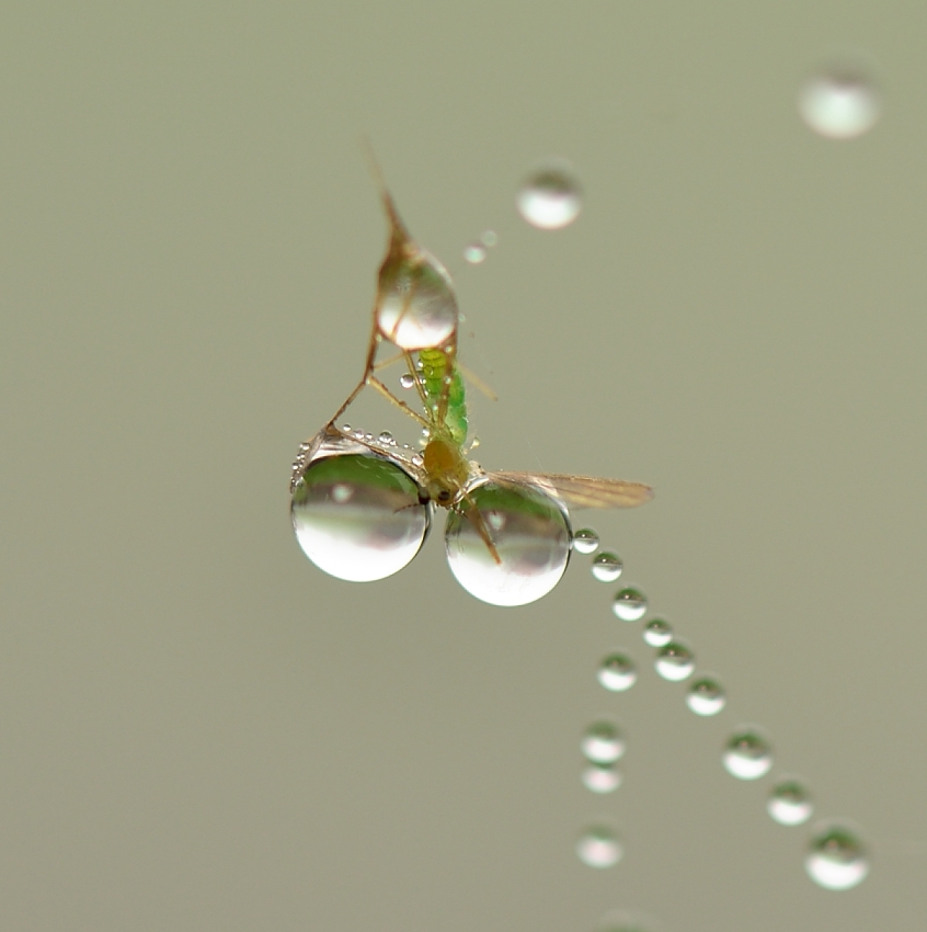
<instances>
[{"instance_id":1,"label":"large round droplet under the insect's right wing, leg across it","mask_svg":"<svg viewBox=\"0 0 927 932\"><path fill-rule=\"evenodd\" d=\"M485 479L467 487L445 525L450 571L471 595L492 605L527 605L547 595L566 570L571 539L569 514L557 499L534 486Z\"/></svg>"}]
</instances>

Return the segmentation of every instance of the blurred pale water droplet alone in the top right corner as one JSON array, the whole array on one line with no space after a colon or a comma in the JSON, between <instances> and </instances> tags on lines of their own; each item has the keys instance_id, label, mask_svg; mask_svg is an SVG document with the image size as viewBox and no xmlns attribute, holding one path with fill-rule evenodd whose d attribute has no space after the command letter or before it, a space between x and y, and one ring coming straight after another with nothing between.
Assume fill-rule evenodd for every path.
<instances>
[{"instance_id":1,"label":"blurred pale water droplet alone in the top right corner","mask_svg":"<svg viewBox=\"0 0 927 932\"><path fill-rule=\"evenodd\" d=\"M854 66L835 66L815 75L799 94L802 120L828 139L852 139L871 129L882 102L872 82Z\"/></svg>"}]
</instances>

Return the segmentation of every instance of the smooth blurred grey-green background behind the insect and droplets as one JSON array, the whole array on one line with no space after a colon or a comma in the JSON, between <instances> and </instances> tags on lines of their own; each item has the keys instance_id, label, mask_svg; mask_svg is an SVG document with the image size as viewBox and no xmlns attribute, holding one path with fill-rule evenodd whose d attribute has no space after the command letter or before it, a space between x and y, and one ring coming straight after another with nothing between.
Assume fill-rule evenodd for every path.
<instances>
[{"instance_id":1,"label":"smooth blurred grey-green background behind the insect and droplets","mask_svg":"<svg viewBox=\"0 0 927 932\"><path fill-rule=\"evenodd\" d=\"M925 30L891 1L8 3L0 927L922 929ZM796 99L846 56L884 110L835 141ZM455 273L483 465L656 488L579 521L721 677L717 719L587 558L502 610L439 533L371 584L299 552L289 463L359 375L385 246L362 134ZM549 156L584 190L558 232L514 206ZM594 797L602 716L629 750ZM743 721L862 827L860 887L814 886L810 828L722 770ZM605 871L574 853L597 821Z\"/></svg>"}]
</instances>

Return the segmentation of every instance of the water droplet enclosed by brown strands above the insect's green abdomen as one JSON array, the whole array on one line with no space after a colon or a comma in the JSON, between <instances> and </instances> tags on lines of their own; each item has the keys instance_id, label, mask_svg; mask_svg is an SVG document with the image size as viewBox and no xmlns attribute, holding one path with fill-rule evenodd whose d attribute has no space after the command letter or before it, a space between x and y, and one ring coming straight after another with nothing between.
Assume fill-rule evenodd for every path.
<instances>
[{"instance_id":1,"label":"water droplet enclosed by brown strands above the insect's green abdomen","mask_svg":"<svg viewBox=\"0 0 927 932\"><path fill-rule=\"evenodd\" d=\"M457 332L454 283L434 255L408 246L380 266L377 328L400 350L443 346Z\"/></svg>"}]
</instances>

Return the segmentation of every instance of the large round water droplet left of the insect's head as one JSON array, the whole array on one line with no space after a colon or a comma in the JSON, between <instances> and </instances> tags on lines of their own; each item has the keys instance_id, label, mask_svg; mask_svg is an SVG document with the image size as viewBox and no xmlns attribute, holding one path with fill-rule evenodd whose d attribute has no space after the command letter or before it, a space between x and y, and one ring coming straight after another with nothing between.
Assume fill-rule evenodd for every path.
<instances>
[{"instance_id":1,"label":"large round water droplet left of the insect's head","mask_svg":"<svg viewBox=\"0 0 927 932\"><path fill-rule=\"evenodd\" d=\"M353 452L336 452L351 450ZM419 553L428 510L399 465L350 441L321 446L293 487L290 513L302 552L351 582L399 572Z\"/></svg>"}]
</instances>

